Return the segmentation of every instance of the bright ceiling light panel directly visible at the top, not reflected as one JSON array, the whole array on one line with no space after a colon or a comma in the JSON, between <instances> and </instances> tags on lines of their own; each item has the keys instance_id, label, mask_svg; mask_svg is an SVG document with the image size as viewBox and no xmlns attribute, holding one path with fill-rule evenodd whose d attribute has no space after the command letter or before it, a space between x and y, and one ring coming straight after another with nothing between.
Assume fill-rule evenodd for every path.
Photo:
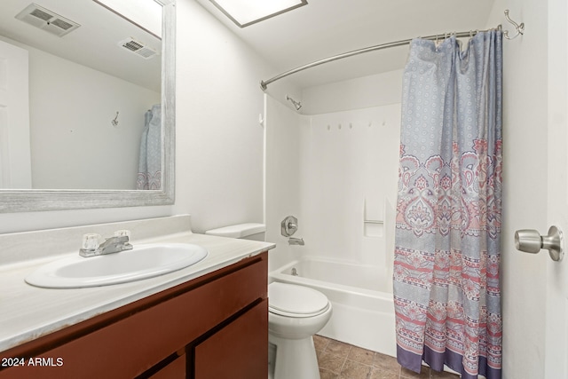
<instances>
[{"instance_id":1,"label":"bright ceiling light panel directly visible at the top, not reflected","mask_svg":"<svg viewBox=\"0 0 568 379\"><path fill-rule=\"evenodd\" d=\"M209 0L240 28L308 4L307 0Z\"/></svg>"}]
</instances>

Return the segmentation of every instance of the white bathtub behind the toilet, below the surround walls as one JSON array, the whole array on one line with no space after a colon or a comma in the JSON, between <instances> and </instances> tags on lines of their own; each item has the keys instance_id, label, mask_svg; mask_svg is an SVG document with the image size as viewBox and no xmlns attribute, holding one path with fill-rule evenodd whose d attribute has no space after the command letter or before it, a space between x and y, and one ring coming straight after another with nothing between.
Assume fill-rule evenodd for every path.
<instances>
[{"instance_id":1,"label":"white bathtub behind the toilet, below the surround walls","mask_svg":"<svg viewBox=\"0 0 568 379\"><path fill-rule=\"evenodd\" d=\"M293 274L294 273L294 274ZM270 281L319 290L333 304L319 335L396 356L391 276L381 267L304 258L270 272Z\"/></svg>"}]
</instances>

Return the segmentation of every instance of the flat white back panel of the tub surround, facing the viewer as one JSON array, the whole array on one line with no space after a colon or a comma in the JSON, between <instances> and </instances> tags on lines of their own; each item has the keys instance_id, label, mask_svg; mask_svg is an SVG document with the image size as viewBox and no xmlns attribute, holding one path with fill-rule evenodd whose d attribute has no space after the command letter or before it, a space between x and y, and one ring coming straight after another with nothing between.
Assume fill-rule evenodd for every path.
<instances>
[{"instance_id":1,"label":"flat white back panel of the tub surround, facing the viewer","mask_svg":"<svg viewBox=\"0 0 568 379\"><path fill-rule=\"evenodd\" d=\"M385 203L396 203L399 117L398 105L371 107L312 115L301 128L298 220L308 255L386 264L385 236L365 228L383 222L386 234L393 225Z\"/></svg>"}]
</instances>

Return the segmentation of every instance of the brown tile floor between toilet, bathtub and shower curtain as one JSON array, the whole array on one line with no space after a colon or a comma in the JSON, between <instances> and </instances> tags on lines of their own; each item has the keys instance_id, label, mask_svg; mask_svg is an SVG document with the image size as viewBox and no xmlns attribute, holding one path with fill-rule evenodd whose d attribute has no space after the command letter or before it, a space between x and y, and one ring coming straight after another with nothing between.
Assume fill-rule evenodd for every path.
<instances>
[{"instance_id":1,"label":"brown tile floor between toilet, bathtub and shower curtain","mask_svg":"<svg viewBox=\"0 0 568 379\"><path fill-rule=\"evenodd\" d=\"M459 375L439 373L422 367L422 372L398 365L397 359L361 349L324 336L314 336L321 379L457 379Z\"/></svg>"}]
</instances>

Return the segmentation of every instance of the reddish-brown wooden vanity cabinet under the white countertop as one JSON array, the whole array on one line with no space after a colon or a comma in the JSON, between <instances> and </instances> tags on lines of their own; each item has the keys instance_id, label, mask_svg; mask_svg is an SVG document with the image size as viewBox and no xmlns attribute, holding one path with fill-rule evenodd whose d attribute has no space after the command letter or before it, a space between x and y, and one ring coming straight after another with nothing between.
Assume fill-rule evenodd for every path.
<instances>
[{"instance_id":1,"label":"reddish-brown wooden vanity cabinet under the white countertop","mask_svg":"<svg viewBox=\"0 0 568 379\"><path fill-rule=\"evenodd\" d=\"M2 351L24 364L1 367L0 379L265 379L267 260L248 257Z\"/></svg>"}]
</instances>

